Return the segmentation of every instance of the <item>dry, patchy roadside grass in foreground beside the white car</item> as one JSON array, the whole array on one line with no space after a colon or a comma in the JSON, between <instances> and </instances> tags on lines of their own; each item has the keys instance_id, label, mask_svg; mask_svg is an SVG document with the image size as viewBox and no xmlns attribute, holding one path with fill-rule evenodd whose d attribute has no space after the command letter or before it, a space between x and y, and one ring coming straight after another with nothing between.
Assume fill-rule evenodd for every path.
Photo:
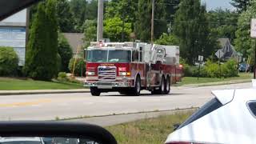
<instances>
[{"instance_id":1,"label":"dry, patchy roadside grass in foreground beside the white car","mask_svg":"<svg viewBox=\"0 0 256 144\"><path fill-rule=\"evenodd\" d=\"M109 126L106 129L114 134L118 143L162 144L166 141L168 134L173 132L174 124L184 122L191 114L193 111L128 122Z\"/></svg>"}]
</instances>

